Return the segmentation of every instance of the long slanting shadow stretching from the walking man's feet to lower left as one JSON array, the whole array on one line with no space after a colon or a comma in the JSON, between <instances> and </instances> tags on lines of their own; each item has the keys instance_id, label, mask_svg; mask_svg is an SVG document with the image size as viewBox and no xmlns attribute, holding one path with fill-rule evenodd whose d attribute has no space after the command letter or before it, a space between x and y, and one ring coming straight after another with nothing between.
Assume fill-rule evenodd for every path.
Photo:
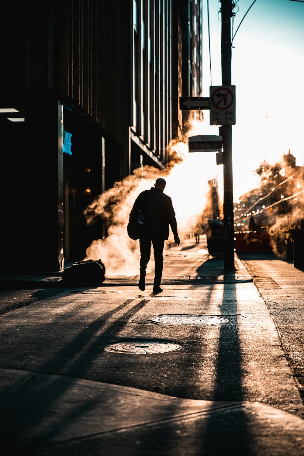
<instances>
[{"instance_id":1,"label":"long slanting shadow stretching from the walking man's feet to lower left","mask_svg":"<svg viewBox=\"0 0 304 456\"><path fill-rule=\"evenodd\" d=\"M104 352L101 350L103 342L116 337L116 335L127 324L129 318L134 316L139 309L144 307L147 302L149 302L149 299L142 300L135 304L128 309L123 316L107 325L109 318L132 302L133 299L129 299L117 306L115 309L108 311L106 314L97 318L89 324L87 328L79 332L77 336L71 340L71 342L62 347L61 351L56 356L40 365L38 371L43 373L52 373L54 372L54 363L56 365L58 361L59 363L66 363L66 365L74 365L75 372L78 372L78 374L80 367L83 371L86 370L95 358L103 355ZM56 436L58 430L61 430L65 425L70 426L79 416L94 407L93 399L80 407L76 405L70 409L66 415L64 415L62 421L58 421L56 425L53 425L52 428L50 428L48 426L48 417L52 415L52 404L56 404L58 399L66 393L64 385L65 384L62 383L60 377L57 379L47 378L45 380L46 393L48 391L52 391L51 396L46 394L47 407L41 409L41 412L39 414L37 413L36 418L33 419L34 415L31 415L31 420L26 422L24 421L24 417L22 415L15 415L14 426L15 429L18 429L18 440L13 437L13 435L15 435L13 430L11 436L3 435L1 444L1 450L4 451L3 454L32 454L37 446L47 445L46 442L50 441L53 436ZM9 393L5 392L5 389L3 389L1 394L5 395ZM30 390L27 391L27 402L31 403L31 401L33 404L36 402L35 389L32 390L32 393ZM31 433L32 430L35 430L35 438L29 441L27 435Z\"/></svg>"}]
</instances>

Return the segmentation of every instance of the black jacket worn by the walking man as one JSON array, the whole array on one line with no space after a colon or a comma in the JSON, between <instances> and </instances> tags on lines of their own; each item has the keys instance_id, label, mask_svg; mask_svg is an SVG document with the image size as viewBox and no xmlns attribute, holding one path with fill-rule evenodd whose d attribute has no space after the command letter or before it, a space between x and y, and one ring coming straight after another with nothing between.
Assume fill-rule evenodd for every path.
<instances>
[{"instance_id":1,"label":"black jacket worn by the walking man","mask_svg":"<svg viewBox=\"0 0 304 456\"><path fill-rule=\"evenodd\" d=\"M172 200L160 188L151 187L150 190L144 190L139 194L130 212L129 222L138 222L139 211L146 215L144 233L168 239L170 224L172 233L178 236Z\"/></svg>"}]
</instances>

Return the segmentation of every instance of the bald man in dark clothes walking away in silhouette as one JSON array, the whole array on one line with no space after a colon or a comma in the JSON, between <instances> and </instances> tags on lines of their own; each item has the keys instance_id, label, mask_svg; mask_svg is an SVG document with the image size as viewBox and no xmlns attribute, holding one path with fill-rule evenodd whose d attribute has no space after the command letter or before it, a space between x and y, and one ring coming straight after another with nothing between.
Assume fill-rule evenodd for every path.
<instances>
[{"instance_id":1,"label":"bald man in dark clothes walking away in silhouette","mask_svg":"<svg viewBox=\"0 0 304 456\"><path fill-rule=\"evenodd\" d=\"M169 224L174 234L175 244L180 245L180 238L177 233L175 212L170 197L165 195L165 179L156 179L154 187L141 192L134 202L130 212L129 222L137 223L140 212L144 214L144 222L139 236L140 247L140 278L139 290L144 291L146 268L151 255L151 243L154 249L155 271L153 294L161 293L160 286L163 273L163 250L165 239L169 237Z\"/></svg>"}]
</instances>

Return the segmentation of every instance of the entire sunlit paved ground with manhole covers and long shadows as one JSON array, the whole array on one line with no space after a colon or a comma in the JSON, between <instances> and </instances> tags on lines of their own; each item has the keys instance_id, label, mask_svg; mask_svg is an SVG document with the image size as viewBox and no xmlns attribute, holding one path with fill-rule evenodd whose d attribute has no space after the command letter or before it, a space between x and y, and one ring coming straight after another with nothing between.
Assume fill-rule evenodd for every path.
<instances>
[{"instance_id":1,"label":"entire sunlit paved ground with manhole covers and long shadows","mask_svg":"<svg viewBox=\"0 0 304 456\"><path fill-rule=\"evenodd\" d=\"M2 454L304 454L304 273L204 247L165 251L161 295L113 276L6 309Z\"/></svg>"}]
</instances>

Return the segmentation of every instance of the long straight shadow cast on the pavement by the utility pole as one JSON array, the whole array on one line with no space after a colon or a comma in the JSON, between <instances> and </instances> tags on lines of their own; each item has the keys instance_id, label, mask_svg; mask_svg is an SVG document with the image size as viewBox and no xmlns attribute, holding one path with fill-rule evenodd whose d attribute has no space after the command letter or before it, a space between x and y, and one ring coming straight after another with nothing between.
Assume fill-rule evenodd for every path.
<instances>
[{"instance_id":1,"label":"long straight shadow cast on the pavement by the utility pole","mask_svg":"<svg viewBox=\"0 0 304 456\"><path fill-rule=\"evenodd\" d=\"M225 284L221 305L222 316L230 320L220 326L216 363L214 401L244 400L242 362L237 327L237 295L235 284ZM235 321L233 321L235 320ZM226 413L211 413L202 423L201 449L206 455L254 455L249 419L242 406ZM219 438L220 436L220 438Z\"/></svg>"}]
</instances>

